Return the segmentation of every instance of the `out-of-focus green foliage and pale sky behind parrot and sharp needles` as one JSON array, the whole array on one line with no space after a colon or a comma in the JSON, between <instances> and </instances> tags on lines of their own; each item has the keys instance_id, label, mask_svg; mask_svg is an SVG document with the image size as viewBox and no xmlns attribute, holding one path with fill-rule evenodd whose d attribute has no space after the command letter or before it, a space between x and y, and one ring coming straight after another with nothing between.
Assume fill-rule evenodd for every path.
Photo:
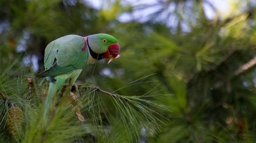
<instances>
[{"instance_id":1,"label":"out-of-focus green foliage and pale sky behind parrot and sharp needles","mask_svg":"<svg viewBox=\"0 0 256 143\"><path fill-rule=\"evenodd\" d=\"M108 33L122 57L77 83L115 91L146 77L118 91L168 108L138 142L256 142L255 19L254 0L1 0L0 91L43 71L54 39Z\"/></svg>"}]
</instances>

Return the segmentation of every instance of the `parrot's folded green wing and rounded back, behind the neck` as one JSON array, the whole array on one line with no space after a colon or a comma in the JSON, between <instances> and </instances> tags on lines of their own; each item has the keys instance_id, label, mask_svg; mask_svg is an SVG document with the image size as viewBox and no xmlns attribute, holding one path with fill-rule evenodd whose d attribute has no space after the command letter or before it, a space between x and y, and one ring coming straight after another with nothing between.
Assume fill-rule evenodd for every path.
<instances>
[{"instance_id":1,"label":"parrot's folded green wing and rounded back, behind the neck","mask_svg":"<svg viewBox=\"0 0 256 143\"><path fill-rule=\"evenodd\" d=\"M88 50L82 50L84 38L67 35L49 43L44 53L44 70L38 77L57 76L82 69L87 65Z\"/></svg>"}]
</instances>

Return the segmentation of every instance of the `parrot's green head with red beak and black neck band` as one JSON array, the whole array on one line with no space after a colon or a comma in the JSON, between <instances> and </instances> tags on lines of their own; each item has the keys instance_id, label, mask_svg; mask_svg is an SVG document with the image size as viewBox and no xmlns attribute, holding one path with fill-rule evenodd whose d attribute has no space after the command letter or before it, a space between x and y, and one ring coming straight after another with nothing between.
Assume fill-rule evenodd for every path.
<instances>
[{"instance_id":1,"label":"parrot's green head with red beak and black neck band","mask_svg":"<svg viewBox=\"0 0 256 143\"><path fill-rule=\"evenodd\" d=\"M114 36L104 33L89 35L87 44L94 59L109 59L109 64L113 59L120 57L119 43Z\"/></svg>"}]
</instances>

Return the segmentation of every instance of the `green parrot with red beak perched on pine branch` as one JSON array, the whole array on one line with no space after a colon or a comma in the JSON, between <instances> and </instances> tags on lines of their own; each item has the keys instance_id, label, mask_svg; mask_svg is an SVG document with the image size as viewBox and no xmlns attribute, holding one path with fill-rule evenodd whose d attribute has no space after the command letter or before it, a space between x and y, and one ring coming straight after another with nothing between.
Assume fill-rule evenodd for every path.
<instances>
[{"instance_id":1,"label":"green parrot with red beak perched on pine branch","mask_svg":"<svg viewBox=\"0 0 256 143\"><path fill-rule=\"evenodd\" d=\"M89 36L66 35L50 42L44 52L45 70L37 75L49 81L48 94L44 101L43 117L57 91L69 82L74 85L82 69L99 59L109 59L108 64L119 58L119 42L111 35L99 33Z\"/></svg>"}]
</instances>

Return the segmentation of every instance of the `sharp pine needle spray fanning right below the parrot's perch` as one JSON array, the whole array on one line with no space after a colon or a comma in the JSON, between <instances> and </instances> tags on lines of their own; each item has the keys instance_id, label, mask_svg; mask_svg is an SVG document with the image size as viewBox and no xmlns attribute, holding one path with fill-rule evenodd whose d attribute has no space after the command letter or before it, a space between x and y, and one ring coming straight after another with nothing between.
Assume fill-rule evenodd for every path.
<instances>
[{"instance_id":1,"label":"sharp pine needle spray fanning right below the parrot's perch","mask_svg":"<svg viewBox=\"0 0 256 143\"><path fill-rule=\"evenodd\" d=\"M127 85L124 85L124 87L126 86ZM84 102L87 102L87 105L84 105L85 107L89 108L92 115L98 114L99 110L108 110L102 107L104 106L104 102L101 96L97 96L95 92L98 91L99 93L104 93L105 95L110 97L110 101L112 101L112 105L116 110L116 116L118 116L118 120L116 122L118 122L119 125L123 126L123 131L125 133L126 139L128 139L130 142L140 141L140 130L142 128L147 128L147 130L151 130L154 131L154 133L157 133L160 128L160 124L164 124L159 118L165 117L160 115L153 108L169 111L168 108L162 105L160 102L144 99L154 98L154 96L157 96L148 95L148 93L152 90L148 91L144 95L127 96L103 90L97 85L79 85L79 87L84 88L85 92L80 93L81 96L79 99L77 99L77 102L82 101L84 98ZM104 115L108 119L110 119L110 116L113 116L112 113L110 113L110 115L108 116L108 111L107 114L104 113ZM97 121L96 124L102 122L101 115L96 115L95 117L93 117L93 119ZM112 126L113 119L110 119L108 121L110 122L110 126ZM98 137L100 138L99 135Z\"/></svg>"}]
</instances>

